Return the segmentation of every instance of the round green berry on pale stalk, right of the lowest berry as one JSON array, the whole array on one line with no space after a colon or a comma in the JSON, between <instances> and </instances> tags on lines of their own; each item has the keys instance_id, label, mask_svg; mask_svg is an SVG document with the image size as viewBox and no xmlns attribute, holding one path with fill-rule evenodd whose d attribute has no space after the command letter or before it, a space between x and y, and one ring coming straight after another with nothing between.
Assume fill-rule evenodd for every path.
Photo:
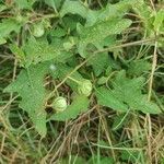
<instances>
[{"instance_id":1,"label":"round green berry on pale stalk, right of the lowest berry","mask_svg":"<svg viewBox=\"0 0 164 164\"><path fill-rule=\"evenodd\" d=\"M92 83L90 80L83 80L78 86L79 94L89 96L92 93Z\"/></svg>"}]
</instances>

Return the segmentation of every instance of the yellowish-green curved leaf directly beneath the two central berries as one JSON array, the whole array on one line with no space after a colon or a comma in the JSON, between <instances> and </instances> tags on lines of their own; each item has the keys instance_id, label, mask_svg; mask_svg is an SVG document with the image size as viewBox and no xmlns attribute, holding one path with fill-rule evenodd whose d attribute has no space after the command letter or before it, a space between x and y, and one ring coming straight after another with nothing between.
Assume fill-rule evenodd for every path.
<instances>
[{"instance_id":1,"label":"yellowish-green curved leaf directly beneath the two central berries","mask_svg":"<svg viewBox=\"0 0 164 164\"><path fill-rule=\"evenodd\" d=\"M57 113L50 117L50 120L66 121L68 119L75 118L79 114L85 112L89 106L89 99L84 95L77 95L73 102L66 110L62 113Z\"/></svg>"}]
</instances>

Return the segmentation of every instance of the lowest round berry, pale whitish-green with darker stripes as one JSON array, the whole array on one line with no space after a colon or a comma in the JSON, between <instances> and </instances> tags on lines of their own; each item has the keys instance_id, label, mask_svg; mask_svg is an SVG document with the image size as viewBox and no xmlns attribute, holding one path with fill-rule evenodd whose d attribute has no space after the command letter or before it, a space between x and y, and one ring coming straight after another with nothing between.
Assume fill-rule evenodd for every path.
<instances>
[{"instance_id":1,"label":"lowest round berry, pale whitish-green with darker stripes","mask_svg":"<svg viewBox=\"0 0 164 164\"><path fill-rule=\"evenodd\" d=\"M54 103L52 103L52 108L56 112L63 112L67 108L67 101L65 97L59 96L57 98L55 98Z\"/></svg>"}]
</instances>

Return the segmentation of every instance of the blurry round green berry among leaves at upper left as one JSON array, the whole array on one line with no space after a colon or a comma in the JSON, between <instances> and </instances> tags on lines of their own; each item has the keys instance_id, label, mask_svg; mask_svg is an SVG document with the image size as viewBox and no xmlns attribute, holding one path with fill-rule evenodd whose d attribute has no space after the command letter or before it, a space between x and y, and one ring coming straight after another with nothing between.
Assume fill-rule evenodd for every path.
<instances>
[{"instance_id":1,"label":"blurry round green berry among leaves at upper left","mask_svg":"<svg viewBox=\"0 0 164 164\"><path fill-rule=\"evenodd\" d=\"M42 23L34 24L33 35L35 37L42 37L45 34L45 27Z\"/></svg>"}]
</instances>

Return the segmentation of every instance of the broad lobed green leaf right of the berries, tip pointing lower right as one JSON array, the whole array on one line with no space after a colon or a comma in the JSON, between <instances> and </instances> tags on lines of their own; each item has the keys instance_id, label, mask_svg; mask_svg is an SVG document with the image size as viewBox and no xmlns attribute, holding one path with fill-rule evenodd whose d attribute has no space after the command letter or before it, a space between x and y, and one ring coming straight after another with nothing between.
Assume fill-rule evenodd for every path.
<instances>
[{"instance_id":1,"label":"broad lobed green leaf right of the berries, tip pointing lower right","mask_svg":"<svg viewBox=\"0 0 164 164\"><path fill-rule=\"evenodd\" d=\"M148 101L148 95L142 94L143 78L128 79L126 72L120 71L115 81L113 90L99 87L96 92L98 104L108 106L115 110L141 110L142 113L160 114L159 106Z\"/></svg>"}]
</instances>

